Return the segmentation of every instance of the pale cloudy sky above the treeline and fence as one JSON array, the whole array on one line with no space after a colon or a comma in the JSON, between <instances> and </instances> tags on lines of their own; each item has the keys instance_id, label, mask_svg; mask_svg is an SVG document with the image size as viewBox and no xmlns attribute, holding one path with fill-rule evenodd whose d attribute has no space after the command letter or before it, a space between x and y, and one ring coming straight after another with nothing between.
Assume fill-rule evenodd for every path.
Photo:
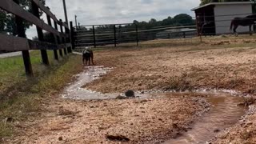
<instances>
[{"instance_id":1,"label":"pale cloudy sky above the treeline and fence","mask_svg":"<svg viewBox=\"0 0 256 144\"><path fill-rule=\"evenodd\" d=\"M68 20L74 22L74 15L81 25L129 23L137 20L148 22L150 18L162 20L176 14L190 14L199 6L200 0L66 0ZM46 6L57 18L65 19L62 0L46 0ZM42 16L46 19L46 16ZM46 20L45 20L46 22ZM35 27L26 31L28 38L36 36Z\"/></svg>"}]
</instances>

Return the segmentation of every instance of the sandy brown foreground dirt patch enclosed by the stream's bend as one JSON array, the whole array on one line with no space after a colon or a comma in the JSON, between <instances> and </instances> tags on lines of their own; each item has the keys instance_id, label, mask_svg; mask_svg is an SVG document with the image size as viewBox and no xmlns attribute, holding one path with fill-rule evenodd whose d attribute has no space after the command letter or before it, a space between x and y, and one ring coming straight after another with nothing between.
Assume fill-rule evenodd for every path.
<instances>
[{"instance_id":1,"label":"sandy brown foreground dirt patch enclosed by the stream's bend","mask_svg":"<svg viewBox=\"0 0 256 144\"><path fill-rule=\"evenodd\" d=\"M126 143L162 142L182 134L206 110L206 102L195 96L88 102L58 99L50 102L41 120L16 123L22 133L10 143L126 142L113 141L108 135L129 138Z\"/></svg>"}]
</instances>

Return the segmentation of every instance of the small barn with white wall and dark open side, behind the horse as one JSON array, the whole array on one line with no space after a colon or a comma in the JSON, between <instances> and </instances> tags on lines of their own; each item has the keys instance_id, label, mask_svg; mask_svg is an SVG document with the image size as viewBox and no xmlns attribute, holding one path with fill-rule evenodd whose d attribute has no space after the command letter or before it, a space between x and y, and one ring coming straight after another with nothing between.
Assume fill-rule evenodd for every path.
<instances>
[{"instance_id":1,"label":"small barn with white wall and dark open side, behind the horse","mask_svg":"<svg viewBox=\"0 0 256 144\"><path fill-rule=\"evenodd\" d=\"M246 17L255 12L254 2L210 2L194 9L198 34L229 34L235 17ZM246 33L249 26L238 26L238 33Z\"/></svg>"}]
</instances>

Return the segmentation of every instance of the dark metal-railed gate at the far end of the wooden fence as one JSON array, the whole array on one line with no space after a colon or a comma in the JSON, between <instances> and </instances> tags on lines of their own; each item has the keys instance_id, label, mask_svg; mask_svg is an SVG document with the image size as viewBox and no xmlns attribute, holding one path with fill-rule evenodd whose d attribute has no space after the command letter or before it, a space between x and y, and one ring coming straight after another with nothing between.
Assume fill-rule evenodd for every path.
<instances>
[{"instance_id":1,"label":"dark metal-railed gate at the far end of the wooden fence","mask_svg":"<svg viewBox=\"0 0 256 144\"><path fill-rule=\"evenodd\" d=\"M138 26L134 23L74 26L74 46L138 46Z\"/></svg>"}]
</instances>

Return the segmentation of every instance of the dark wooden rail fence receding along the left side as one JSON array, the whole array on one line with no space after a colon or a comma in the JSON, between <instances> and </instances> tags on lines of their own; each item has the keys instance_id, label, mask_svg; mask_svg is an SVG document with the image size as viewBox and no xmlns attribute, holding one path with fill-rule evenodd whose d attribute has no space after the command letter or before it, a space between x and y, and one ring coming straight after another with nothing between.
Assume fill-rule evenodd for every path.
<instances>
[{"instance_id":1,"label":"dark wooden rail fence receding along the left side","mask_svg":"<svg viewBox=\"0 0 256 144\"><path fill-rule=\"evenodd\" d=\"M18 37L7 34L0 34L0 50L22 51L22 57L27 76L33 76L33 70L30 62L29 50L41 50L42 62L49 65L48 55L46 50L54 50L54 58L59 59L58 53L63 57L63 51L66 55L71 53L71 38L70 29L66 22L58 20L52 14L48 7L44 6L39 0L30 0L32 3L32 13L24 10L19 6L19 0L1 0L0 8L6 10L10 14L14 14ZM42 10L47 17L47 24L40 19L39 9ZM52 26L51 19L54 22ZM37 28L38 41L32 41L26 38L26 32L23 22L31 22ZM70 22L72 25L72 22ZM58 31L60 26L60 32ZM63 30L65 29L65 32ZM44 35L42 30L50 32L51 38L54 38L54 43L44 42Z\"/></svg>"}]
</instances>

